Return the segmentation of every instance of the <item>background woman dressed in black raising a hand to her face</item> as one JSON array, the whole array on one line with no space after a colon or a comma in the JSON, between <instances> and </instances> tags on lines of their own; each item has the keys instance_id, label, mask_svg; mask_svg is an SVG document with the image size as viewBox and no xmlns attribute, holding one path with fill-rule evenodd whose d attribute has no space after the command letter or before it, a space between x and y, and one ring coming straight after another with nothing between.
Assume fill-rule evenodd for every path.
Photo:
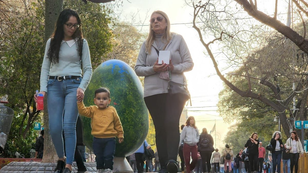
<instances>
[{"instance_id":1,"label":"background woman dressed in black raising a hand to her face","mask_svg":"<svg viewBox=\"0 0 308 173\"><path fill-rule=\"evenodd\" d=\"M259 143L260 142L258 140L258 133L253 132L245 144L245 147L247 147L248 150L250 171L254 173L257 173L259 171L258 169Z\"/></svg>"}]
</instances>

